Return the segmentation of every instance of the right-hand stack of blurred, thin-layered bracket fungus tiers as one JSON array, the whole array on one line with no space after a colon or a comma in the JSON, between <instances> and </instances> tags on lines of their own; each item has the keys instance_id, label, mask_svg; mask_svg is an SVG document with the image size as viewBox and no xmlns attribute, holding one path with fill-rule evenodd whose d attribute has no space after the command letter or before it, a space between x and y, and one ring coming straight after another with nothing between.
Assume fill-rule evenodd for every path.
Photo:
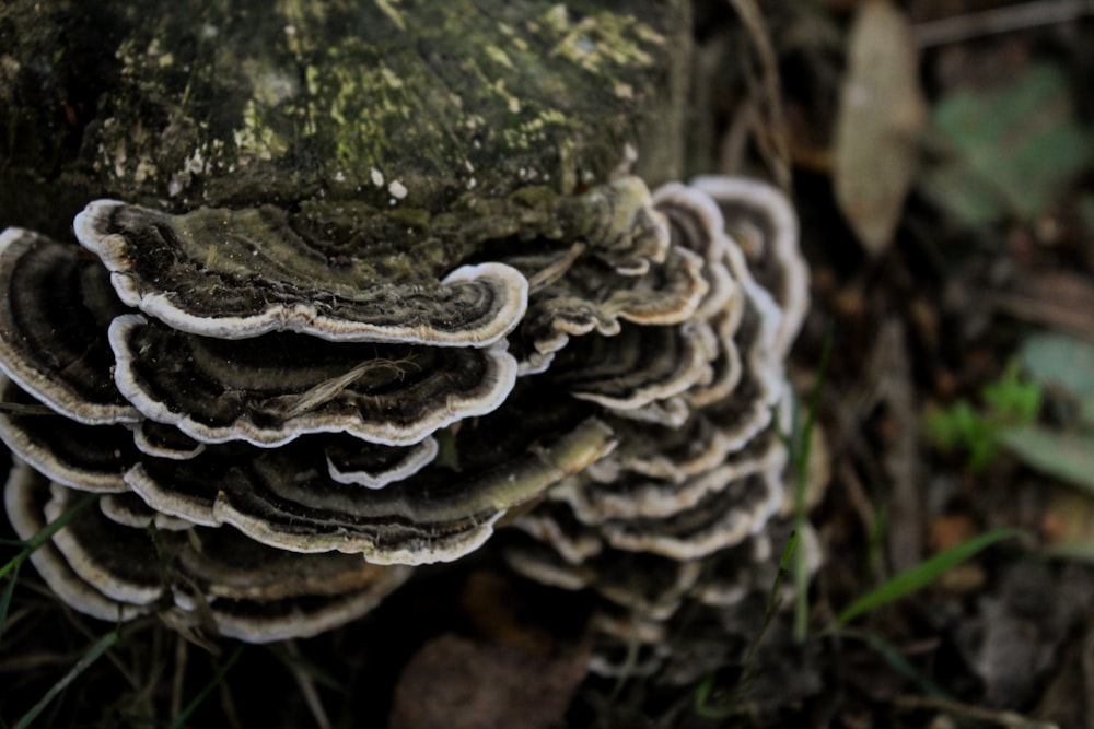
<instances>
[{"instance_id":1,"label":"right-hand stack of blurred, thin-layered bracket fungus tiers","mask_svg":"<svg viewBox=\"0 0 1094 729\"><path fill-rule=\"evenodd\" d=\"M550 490L517 522L531 539L507 548L517 572L598 593L591 668L605 675L655 670L685 602L687 620L706 610L750 637L764 610L743 605L763 604L775 584L772 544L789 528L778 517L792 501L783 360L807 305L793 211L773 188L726 177L666 185L653 201L672 246L698 261L698 298L642 321L661 326L631 320L577 350L582 386L571 393L604 408L619 445ZM627 366L597 392L583 389L603 368L591 355L607 351ZM800 544L815 569L812 533Z\"/></svg>"}]
</instances>

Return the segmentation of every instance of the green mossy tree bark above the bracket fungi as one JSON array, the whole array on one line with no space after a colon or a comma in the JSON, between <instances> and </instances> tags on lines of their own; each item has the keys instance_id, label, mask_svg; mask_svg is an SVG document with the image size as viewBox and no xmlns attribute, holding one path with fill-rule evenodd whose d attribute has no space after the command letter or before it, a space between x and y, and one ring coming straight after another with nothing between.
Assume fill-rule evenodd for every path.
<instances>
[{"instance_id":1,"label":"green mossy tree bark above the bracket fungi","mask_svg":"<svg viewBox=\"0 0 1094 729\"><path fill-rule=\"evenodd\" d=\"M95 0L0 7L0 227L89 200L416 216L639 153L679 175L685 0ZM330 213L333 214L333 213Z\"/></svg>"}]
</instances>

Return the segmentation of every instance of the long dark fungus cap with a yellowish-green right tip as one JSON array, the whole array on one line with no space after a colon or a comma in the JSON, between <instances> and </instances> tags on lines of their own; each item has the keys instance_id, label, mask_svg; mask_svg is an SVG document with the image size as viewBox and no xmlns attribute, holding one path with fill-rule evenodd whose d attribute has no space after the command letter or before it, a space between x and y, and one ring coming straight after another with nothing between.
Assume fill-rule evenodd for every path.
<instances>
[{"instance_id":1,"label":"long dark fungus cap with a yellowish-green right tip","mask_svg":"<svg viewBox=\"0 0 1094 729\"><path fill-rule=\"evenodd\" d=\"M590 419L527 443L505 461L489 460L488 451L476 457L467 447L457 473L429 466L379 490L331 479L325 454L304 439L272 450L210 449L177 463L146 460L125 480L156 512L209 527L231 525L282 550L422 564L478 549L508 509L534 501L612 447L610 431Z\"/></svg>"}]
</instances>

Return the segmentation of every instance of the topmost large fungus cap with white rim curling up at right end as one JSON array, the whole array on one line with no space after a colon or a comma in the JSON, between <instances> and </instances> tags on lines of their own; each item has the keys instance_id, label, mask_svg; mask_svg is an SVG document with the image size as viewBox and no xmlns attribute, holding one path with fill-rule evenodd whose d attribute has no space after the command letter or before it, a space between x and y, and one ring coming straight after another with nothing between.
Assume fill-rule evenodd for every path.
<instances>
[{"instance_id":1,"label":"topmost large fungus cap with white rim curling up at right end","mask_svg":"<svg viewBox=\"0 0 1094 729\"><path fill-rule=\"evenodd\" d=\"M298 234L279 208L171 215L98 200L74 227L110 271L123 303L194 334L295 331L333 341L484 346L527 307L527 282L508 266L465 266L438 280L410 266L389 270L386 251L342 262Z\"/></svg>"}]
</instances>

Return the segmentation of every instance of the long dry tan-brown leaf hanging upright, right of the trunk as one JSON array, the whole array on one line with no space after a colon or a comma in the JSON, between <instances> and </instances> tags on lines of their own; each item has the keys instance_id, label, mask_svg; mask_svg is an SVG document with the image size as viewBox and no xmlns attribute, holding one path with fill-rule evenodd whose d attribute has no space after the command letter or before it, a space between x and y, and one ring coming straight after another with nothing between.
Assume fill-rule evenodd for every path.
<instances>
[{"instance_id":1,"label":"long dry tan-brown leaf hanging upright, right of the trunk","mask_svg":"<svg viewBox=\"0 0 1094 729\"><path fill-rule=\"evenodd\" d=\"M918 167L927 103L905 16L888 0L862 4L851 27L836 119L836 201L862 245L878 255L896 231Z\"/></svg>"}]
</instances>

